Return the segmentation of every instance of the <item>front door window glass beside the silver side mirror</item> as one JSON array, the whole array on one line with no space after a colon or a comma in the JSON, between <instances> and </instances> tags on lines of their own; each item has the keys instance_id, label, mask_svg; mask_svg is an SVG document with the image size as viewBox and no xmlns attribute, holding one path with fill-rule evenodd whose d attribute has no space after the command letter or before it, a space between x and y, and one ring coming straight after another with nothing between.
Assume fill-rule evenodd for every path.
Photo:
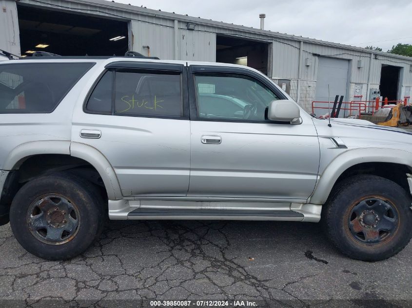
<instances>
[{"instance_id":1,"label":"front door window glass beside the silver side mirror","mask_svg":"<svg viewBox=\"0 0 412 308\"><path fill-rule=\"evenodd\" d=\"M254 78L237 74L199 74L196 96L199 118L264 121L265 109L279 97Z\"/></svg>"}]
</instances>

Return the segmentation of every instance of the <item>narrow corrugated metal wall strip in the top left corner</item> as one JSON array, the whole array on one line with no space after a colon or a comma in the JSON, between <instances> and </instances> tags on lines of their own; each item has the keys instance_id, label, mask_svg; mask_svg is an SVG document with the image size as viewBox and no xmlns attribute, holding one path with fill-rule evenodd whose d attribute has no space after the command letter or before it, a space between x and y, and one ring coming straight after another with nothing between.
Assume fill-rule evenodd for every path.
<instances>
[{"instance_id":1,"label":"narrow corrugated metal wall strip in the top left corner","mask_svg":"<svg viewBox=\"0 0 412 308\"><path fill-rule=\"evenodd\" d=\"M20 33L15 0L0 0L0 49L20 55Z\"/></svg>"}]
</instances>

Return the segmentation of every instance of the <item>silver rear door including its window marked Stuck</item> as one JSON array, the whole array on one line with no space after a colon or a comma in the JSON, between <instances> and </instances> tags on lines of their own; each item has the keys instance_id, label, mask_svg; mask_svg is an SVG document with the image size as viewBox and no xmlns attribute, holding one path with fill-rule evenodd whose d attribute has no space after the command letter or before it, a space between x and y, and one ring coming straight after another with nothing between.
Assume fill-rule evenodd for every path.
<instances>
[{"instance_id":1,"label":"silver rear door including its window marked Stuck","mask_svg":"<svg viewBox=\"0 0 412 308\"><path fill-rule=\"evenodd\" d=\"M186 70L180 64L106 66L73 118L72 139L112 164L123 196L185 196L190 122Z\"/></svg>"}]
</instances>

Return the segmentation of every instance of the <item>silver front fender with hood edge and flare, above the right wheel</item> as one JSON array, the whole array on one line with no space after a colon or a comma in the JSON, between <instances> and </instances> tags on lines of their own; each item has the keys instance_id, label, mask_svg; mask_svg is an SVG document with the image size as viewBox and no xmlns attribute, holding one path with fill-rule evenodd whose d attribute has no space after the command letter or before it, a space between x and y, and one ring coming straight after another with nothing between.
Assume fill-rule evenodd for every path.
<instances>
[{"instance_id":1,"label":"silver front fender with hood edge and flare, above the right wheel","mask_svg":"<svg viewBox=\"0 0 412 308\"><path fill-rule=\"evenodd\" d=\"M412 133L357 119L314 118L320 143L319 181L308 202L323 204L339 176L359 163L399 163L412 168ZM346 148L338 148L339 138ZM406 175L405 175L406 177Z\"/></svg>"}]
</instances>

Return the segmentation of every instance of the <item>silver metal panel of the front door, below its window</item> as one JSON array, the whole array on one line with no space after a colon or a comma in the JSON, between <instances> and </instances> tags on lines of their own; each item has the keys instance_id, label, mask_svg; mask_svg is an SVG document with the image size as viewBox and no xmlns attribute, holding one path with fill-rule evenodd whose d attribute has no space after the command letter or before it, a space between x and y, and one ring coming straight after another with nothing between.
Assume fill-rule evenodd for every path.
<instances>
[{"instance_id":1,"label":"silver metal panel of the front door, below its window","mask_svg":"<svg viewBox=\"0 0 412 308\"><path fill-rule=\"evenodd\" d=\"M188 196L307 199L319 168L319 142L308 122L192 121ZM203 144L202 135L219 135L221 144Z\"/></svg>"}]
</instances>

